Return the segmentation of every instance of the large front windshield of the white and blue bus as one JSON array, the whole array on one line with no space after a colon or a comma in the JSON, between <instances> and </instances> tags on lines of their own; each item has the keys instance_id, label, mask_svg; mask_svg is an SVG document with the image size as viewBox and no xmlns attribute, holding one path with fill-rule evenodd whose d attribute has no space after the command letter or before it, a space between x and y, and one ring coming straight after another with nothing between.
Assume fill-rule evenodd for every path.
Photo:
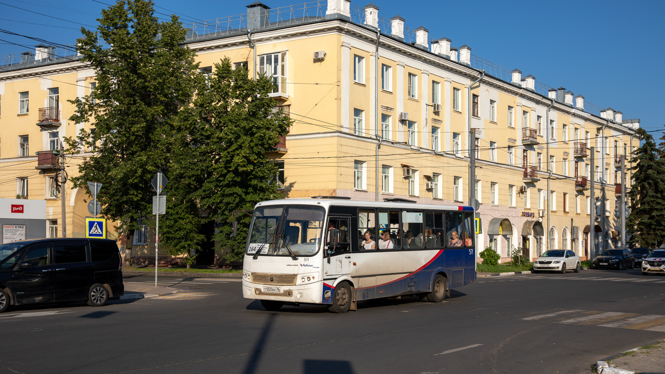
<instances>
[{"instance_id":1,"label":"large front windshield of the white and blue bus","mask_svg":"<svg viewBox=\"0 0 665 374\"><path fill-rule=\"evenodd\" d=\"M296 256L315 254L323 233L323 208L320 207L260 207L247 242L247 254ZM288 247L288 248L287 248Z\"/></svg>"}]
</instances>

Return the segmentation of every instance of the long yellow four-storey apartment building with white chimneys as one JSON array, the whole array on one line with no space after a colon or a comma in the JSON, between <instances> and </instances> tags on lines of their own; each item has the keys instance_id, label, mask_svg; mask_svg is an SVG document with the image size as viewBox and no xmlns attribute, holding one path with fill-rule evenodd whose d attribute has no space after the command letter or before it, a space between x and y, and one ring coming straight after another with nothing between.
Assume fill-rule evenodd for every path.
<instances>
[{"instance_id":1,"label":"long yellow four-storey apartment building with white chimneys","mask_svg":"<svg viewBox=\"0 0 665 374\"><path fill-rule=\"evenodd\" d=\"M503 260L522 246L531 258L547 248L586 258L597 205L598 246L621 246L616 184L622 156L638 146L639 120L378 13L376 5L348 0L277 9L256 2L245 15L186 25L201 72L214 73L213 64L229 57L250 76L273 78L275 106L294 121L270 154L285 197L474 205L471 188L481 219L478 252L490 246ZM74 110L66 100L94 88L94 68L75 52L48 46L9 60L0 66L0 197L46 199L49 225L61 234L61 201L50 192L53 162L35 152L50 155L56 138L94 127L66 120ZM66 157L70 176L92 151ZM89 197L70 187L66 230L79 236ZM150 235L135 238L134 259L147 262L154 256Z\"/></svg>"}]
</instances>

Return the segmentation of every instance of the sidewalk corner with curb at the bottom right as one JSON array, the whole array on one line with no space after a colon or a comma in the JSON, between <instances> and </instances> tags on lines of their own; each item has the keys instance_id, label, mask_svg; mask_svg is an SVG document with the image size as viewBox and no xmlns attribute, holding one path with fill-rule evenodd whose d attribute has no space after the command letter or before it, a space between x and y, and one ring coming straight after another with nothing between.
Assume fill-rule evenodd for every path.
<instances>
[{"instance_id":1,"label":"sidewalk corner with curb at the bottom right","mask_svg":"<svg viewBox=\"0 0 665 374\"><path fill-rule=\"evenodd\" d=\"M663 374L665 373L665 340L637 347L598 361L600 374Z\"/></svg>"}]
</instances>

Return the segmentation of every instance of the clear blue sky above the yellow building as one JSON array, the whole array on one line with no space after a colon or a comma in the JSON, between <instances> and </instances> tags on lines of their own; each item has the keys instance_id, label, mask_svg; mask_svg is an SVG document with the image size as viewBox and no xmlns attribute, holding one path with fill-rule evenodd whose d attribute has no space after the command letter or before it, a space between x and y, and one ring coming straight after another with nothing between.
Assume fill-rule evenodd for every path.
<instances>
[{"instance_id":1,"label":"clear blue sky above the yellow building","mask_svg":"<svg viewBox=\"0 0 665 374\"><path fill-rule=\"evenodd\" d=\"M213 19L245 13L245 5L253 1L156 0L156 5L170 11L156 10L176 12L190 20ZM372 1L383 17L401 15L411 29L424 26L431 37L448 37L452 45L466 44L473 54L509 70L519 68L523 75L533 74L548 86L563 86L602 108L611 106L626 119L640 118L646 130L664 129L665 76L657 66L665 61L665 1ZM263 2L269 7L299 3ZM363 7L369 2L354 0L352 4ZM0 0L0 29L73 43L80 36L80 24L96 25L100 10L106 7L102 3ZM4 33L0 39L27 46L38 44ZM0 41L0 55L23 50L27 48Z\"/></svg>"}]
</instances>

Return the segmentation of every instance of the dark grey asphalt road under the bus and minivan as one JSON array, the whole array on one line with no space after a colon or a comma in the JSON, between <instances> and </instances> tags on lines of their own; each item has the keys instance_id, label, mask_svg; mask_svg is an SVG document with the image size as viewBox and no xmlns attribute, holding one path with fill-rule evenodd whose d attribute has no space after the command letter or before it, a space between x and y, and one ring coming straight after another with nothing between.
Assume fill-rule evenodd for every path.
<instances>
[{"instance_id":1,"label":"dark grey asphalt road under the bus and minivan","mask_svg":"<svg viewBox=\"0 0 665 374\"><path fill-rule=\"evenodd\" d=\"M665 276L639 270L479 278L441 304L346 314L267 312L237 281L161 279L182 293L1 314L0 373L591 373L665 338Z\"/></svg>"}]
</instances>

